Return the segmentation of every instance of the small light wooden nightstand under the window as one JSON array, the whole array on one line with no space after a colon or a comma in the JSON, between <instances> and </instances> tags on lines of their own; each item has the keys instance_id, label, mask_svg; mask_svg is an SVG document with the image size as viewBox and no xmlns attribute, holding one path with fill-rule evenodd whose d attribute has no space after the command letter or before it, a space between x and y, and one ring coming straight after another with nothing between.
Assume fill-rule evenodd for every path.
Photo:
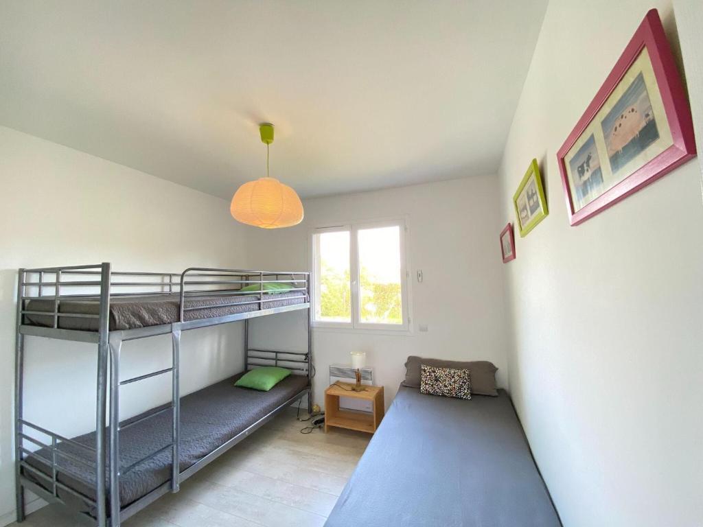
<instances>
[{"instance_id":1,"label":"small light wooden nightstand under the window","mask_svg":"<svg viewBox=\"0 0 703 527\"><path fill-rule=\"evenodd\" d=\"M340 382L344 388L333 384L325 390L325 433L328 427L347 428L373 434L385 414L383 386L366 386L364 391L354 391L354 384ZM371 401L373 413L340 410L340 397Z\"/></svg>"}]
</instances>

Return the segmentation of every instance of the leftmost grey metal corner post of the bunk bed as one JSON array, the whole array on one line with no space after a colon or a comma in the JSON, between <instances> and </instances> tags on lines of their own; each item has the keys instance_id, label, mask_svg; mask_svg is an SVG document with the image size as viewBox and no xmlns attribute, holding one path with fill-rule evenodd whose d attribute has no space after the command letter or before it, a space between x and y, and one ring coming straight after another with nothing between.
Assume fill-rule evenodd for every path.
<instances>
[{"instance_id":1,"label":"leftmost grey metal corner post of the bunk bed","mask_svg":"<svg viewBox=\"0 0 703 527\"><path fill-rule=\"evenodd\" d=\"M15 499L17 521L25 520L25 488L22 486L22 388L25 367L25 336L20 333L22 325L22 297L25 296L25 270L20 269L17 283L17 334L15 335Z\"/></svg>"}]
</instances>

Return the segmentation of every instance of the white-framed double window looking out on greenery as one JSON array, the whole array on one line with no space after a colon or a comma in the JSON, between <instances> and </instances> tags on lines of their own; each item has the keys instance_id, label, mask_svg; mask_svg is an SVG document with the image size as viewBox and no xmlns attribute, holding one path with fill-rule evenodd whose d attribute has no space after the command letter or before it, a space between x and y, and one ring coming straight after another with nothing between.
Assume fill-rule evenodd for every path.
<instances>
[{"instance_id":1,"label":"white-framed double window looking out on greenery","mask_svg":"<svg viewBox=\"0 0 703 527\"><path fill-rule=\"evenodd\" d=\"M312 231L314 324L408 330L402 220Z\"/></svg>"}]
</instances>

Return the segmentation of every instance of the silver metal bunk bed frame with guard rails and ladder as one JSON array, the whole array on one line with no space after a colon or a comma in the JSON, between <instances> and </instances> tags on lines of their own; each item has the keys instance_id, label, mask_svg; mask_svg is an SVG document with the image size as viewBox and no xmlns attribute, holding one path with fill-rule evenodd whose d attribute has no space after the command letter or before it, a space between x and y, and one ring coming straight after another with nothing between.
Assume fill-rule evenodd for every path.
<instances>
[{"instance_id":1,"label":"silver metal bunk bed frame with guard rails and ladder","mask_svg":"<svg viewBox=\"0 0 703 527\"><path fill-rule=\"evenodd\" d=\"M288 277L283 280L281 277ZM86 279L87 277L87 279ZM99 280L98 280L99 278ZM292 285L291 292L299 293L298 297L287 297L287 299L301 299L300 304L287 306L266 307L268 302L276 301L278 295L267 295L264 290L264 283L288 282ZM258 292L240 292L239 289L256 284L259 285ZM304 284L304 286L302 285ZM78 291L78 292L76 292ZM73 293L69 293L73 292ZM149 327L139 327L131 330L110 330L110 299L120 296L145 297L151 294L179 294L180 315L179 320L174 323L155 325ZM198 309L207 309L210 306L186 307L185 300L191 297L212 296L222 294L236 297L237 295L258 295L258 299L252 301L236 302L233 304L246 305L258 304L256 311L236 313L232 315L219 316L217 318L200 318L186 320L186 313ZM99 313L95 315L84 313L66 313L60 311L61 301L86 297L99 300ZM25 309L25 302L32 299L53 299L53 311L30 311ZM233 304L223 304L224 306ZM250 349L249 347L249 319L275 313L287 311L297 311L307 309L307 351L274 351L264 349ZM27 325L24 322L25 315L45 315L53 317L53 327L41 327L37 325ZM97 318L99 322L98 331L78 331L67 330L60 326L60 317L72 318ZM250 427L240 432L237 436L220 445L211 453L202 457L188 469L179 470L179 429L180 429L180 394L179 394L179 355L181 346L181 332L193 330L198 327L220 325L243 320L244 327L244 349L245 349L245 370L257 365L278 365L283 363L291 370L298 370L302 375L307 375L307 387L295 396L285 401L276 410L269 412L252 424ZM49 502L65 503L59 496L59 491L79 498L96 511L96 525L98 527L119 527L120 522L140 511L158 497L170 492L178 492L181 481L195 474L209 462L216 459L234 445L242 441L246 436L269 421L280 410L287 408L295 401L299 401L307 395L308 411L311 411L311 379L312 379L312 339L310 332L310 274L290 271L246 271L239 269L217 269L217 268L188 268L181 274L177 273L118 273L111 269L110 263L101 263L88 266L67 266L67 267L47 267L20 269L18 277L18 301L17 301L17 338L15 346L15 490L17 499L17 520L25 519L25 488L39 495ZM165 370L150 372L131 379L120 380L120 350L122 343L134 339L153 337L155 335L171 334L172 336L172 367ZM39 427L37 424L27 422L22 415L23 397L23 377L24 377L24 344L25 337L49 337L52 339L63 339L70 341L81 341L97 344L98 346L98 369L96 376L96 441L95 446L89 447L76 443L70 438L56 434L49 429ZM254 354L252 354L254 353ZM291 366L291 364L295 364ZM109 366L109 367L108 367ZM108 375L109 372L109 375ZM153 417L167 410L172 412L172 443L165 448L143 458L132 464L130 467L120 467L120 386L138 382L155 375L165 373L172 375L172 401L170 405L163 409L152 410L148 415L139 419ZM109 401L109 411L106 404ZM109 419L108 419L109 416ZM136 422L130 422L125 427L129 427ZM51 444L46 444L37 438L29 435L42 434L51 438ZM32 443L36 449L45 448L51 453L51 460L37 455L36 450L27 448L25 441ZM58 474L63 472L68 474L67 469L62 468L60 457L70 458L74 462L86 464L81 457L75 457L59 450L60 443L70 443L89 453L94 459L94 464L90 464L91 469L95 469L96 482L95 496L91 497L80 493L74 488L70 488L65 483L57 481ZM164 450L172 451L172 474L170 481L151 491L147 495L131 503L127 507L120 504L120 476L127 471L134 469L138 464L146 462L162 453ZM109 454L109 468L106 464L105 453ZM46 466L51 467L51 474L41 471L32 464L27 463L27 457L34 455ZM46 481L47 490L44 486L38 485L27 477L27 473L34 476L34 480ZM75 477L75 474L71 474ZM84 482L86 483L86 482ZM93 483L86 483L93 486ZM109 503L109 510L108 510Z\"/></svg>"}]
</instances>

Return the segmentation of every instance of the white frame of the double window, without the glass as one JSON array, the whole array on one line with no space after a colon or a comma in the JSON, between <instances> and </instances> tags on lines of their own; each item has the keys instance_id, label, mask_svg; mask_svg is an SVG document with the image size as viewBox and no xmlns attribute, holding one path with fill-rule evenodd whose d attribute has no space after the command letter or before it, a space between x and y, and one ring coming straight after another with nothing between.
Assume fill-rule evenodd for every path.
<instances>
[{"instance_id":1,"label":"white frame of the double window, without the glass","mask_svg":"<svg viewBox=\"0 0 703 527\"><path fill-rule=\"evenodd\" d=\"M403 315L402 324L378 324L361 322L361 304L359 302L359 230L367 228L399 227L400 229L400 280L401 280L401 311ZM375 332L384 334L412 334L411 315L411 289L409 278L408 261L408 219L406 217L345 221L335 226L320 226L309 231L309 257L311 277L311 308L313 310L312 326L316 330L342 330L353 332ZM317 282L320 274L320 262L316 257L315 235L320 233L349 232L349 277L352 299L352 320L351 322L331 322L327 320L317 320Z\"/></svg>"}]
</instances>

